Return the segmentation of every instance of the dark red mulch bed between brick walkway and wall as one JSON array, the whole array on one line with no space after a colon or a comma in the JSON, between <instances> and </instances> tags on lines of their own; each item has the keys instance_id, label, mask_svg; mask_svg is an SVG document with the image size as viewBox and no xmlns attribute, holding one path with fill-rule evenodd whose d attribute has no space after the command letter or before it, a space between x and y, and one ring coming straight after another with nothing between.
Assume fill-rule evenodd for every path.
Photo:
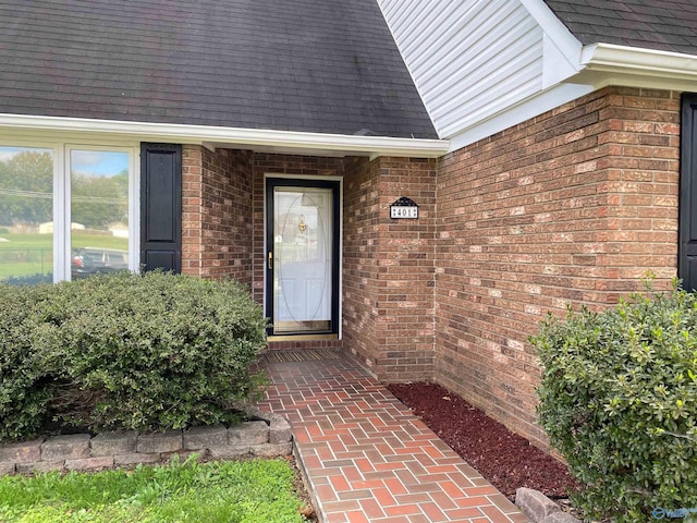
<instances>
[{"instance_id":1,"label":"dark red mulch bed between brick walkway and wall","mask_svg":"<svg viewBox=\"0 0 697 523\"><path fill-rule=\"evenodd\" d=\"M576 488L566 465L447 389L423 382L388 389L503 495L527 487L559 499Z\"/></svg>"}]
</instances>

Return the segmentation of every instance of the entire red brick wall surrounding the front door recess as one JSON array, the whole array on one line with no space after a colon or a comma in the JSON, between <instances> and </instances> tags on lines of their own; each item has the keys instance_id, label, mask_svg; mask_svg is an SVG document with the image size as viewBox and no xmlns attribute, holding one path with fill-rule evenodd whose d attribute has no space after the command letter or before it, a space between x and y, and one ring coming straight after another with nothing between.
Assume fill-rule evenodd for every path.
<instances>
[{"instance_id":1,"label":"entire red brick wall surrounding the front door recess","mask_svg":"<svg viewBox=\"0 0 697 523\"><path fill-rule=\"evenodd\" d=\"M264 301L265 174L343 177L343 341L382 379L435 379L545 446L527 342L547 311L675 275L680 97L606 88L440 160L184 147L184 268ZM391 220L400 196L418 220Z\"/></svg>"}]
</instances>

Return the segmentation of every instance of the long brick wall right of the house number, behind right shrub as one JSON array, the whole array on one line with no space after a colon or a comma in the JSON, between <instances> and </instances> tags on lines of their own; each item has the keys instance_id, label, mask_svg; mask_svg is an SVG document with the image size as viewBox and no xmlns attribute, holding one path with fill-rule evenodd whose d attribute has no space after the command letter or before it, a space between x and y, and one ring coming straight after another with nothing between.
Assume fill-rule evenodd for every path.
<instances>
[{"instance_id":1,"label":"long brick wall right of the house number, behind right shrub","mask_svg":"<svg viewBox=\"0 0 697 523\"><path fill-rule=\"evenodd\" d=\"M606 88L441 160L437 381L546 445L527 338L675 276L678 121L676 93Z\"/></svg>"}]
</instances>

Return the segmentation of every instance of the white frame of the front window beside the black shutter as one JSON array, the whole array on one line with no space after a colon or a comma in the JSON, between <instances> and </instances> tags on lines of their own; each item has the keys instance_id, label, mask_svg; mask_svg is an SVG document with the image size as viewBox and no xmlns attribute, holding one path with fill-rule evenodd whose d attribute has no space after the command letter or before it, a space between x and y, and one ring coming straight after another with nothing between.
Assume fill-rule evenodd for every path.
<instances>
[{"instance_id":1,"label":"white frame of the front window beside the black shutter","mask_svg":"<svg viewBox=\"0 0 697 523\"><path fill-rule=\"evenodd\" d=\"M0 146L37 147L53 153L53 282L71 279L71 151L97 150L127 153L129 161L129 269L140 267L140 148L139 143L113 144L109 141L57 141L20 138L0 131Z\"/></svg>"}]
</instances>

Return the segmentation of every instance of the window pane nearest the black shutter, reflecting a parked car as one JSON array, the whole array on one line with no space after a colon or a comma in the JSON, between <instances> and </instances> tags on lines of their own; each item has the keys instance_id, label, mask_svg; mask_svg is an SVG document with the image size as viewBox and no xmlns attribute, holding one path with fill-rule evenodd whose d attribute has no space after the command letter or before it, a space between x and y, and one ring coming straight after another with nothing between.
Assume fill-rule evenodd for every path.
<instances>
[{"instance_id":1,"label":"window pane nearest the black shutter, reflecting a parked car","mask_svg":"<svg viewBox=\"0 0 697 523\"><path fill-rule=\"evenodd\" d=\"M71 278L129 268L127 153L70 151Z\"/></svg>"}]
</instances>

